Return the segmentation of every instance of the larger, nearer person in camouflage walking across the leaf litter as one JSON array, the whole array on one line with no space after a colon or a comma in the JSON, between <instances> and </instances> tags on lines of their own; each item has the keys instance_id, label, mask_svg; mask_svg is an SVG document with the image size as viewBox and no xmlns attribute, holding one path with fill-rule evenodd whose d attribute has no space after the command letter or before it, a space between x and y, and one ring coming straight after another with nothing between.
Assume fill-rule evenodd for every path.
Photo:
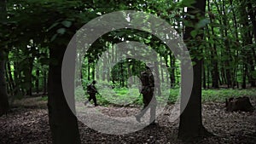
<instances>
[{"instance_id":1,"label":"larger, nearer person in camouflage walking across the leaf litter","mask_svg":"<svg viewBox=\"0 0 256 144\"><path fill-rule=\"evenodd\" d=\"M148 66L146 66L146 71L142 72L140 75L141 82L143 84L143 89L141 94L143 95L143 110L139 112L135 117L138 122L141 122L141 118L150 108L150 125L155 125L155 110L156 110L156 99L154 96L154 76L152 71ZM150 103L150 105L149 105Z\"/></svg>"}]
</instances>

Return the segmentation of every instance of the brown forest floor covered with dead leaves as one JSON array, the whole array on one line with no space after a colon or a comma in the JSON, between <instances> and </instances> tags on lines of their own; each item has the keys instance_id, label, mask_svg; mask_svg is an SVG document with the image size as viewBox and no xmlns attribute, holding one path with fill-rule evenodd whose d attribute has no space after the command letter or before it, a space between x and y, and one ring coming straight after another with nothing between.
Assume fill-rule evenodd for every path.
<instances>
[{"instance_id":1,"label":"brown forest floor covered with dead leaves","mask_svg":"<svg viewBox=\"0 0 256 144\"><path fill-rule=\"evenodd\" d=\"M250 97L253 107L256 98ZM0 118L0 144L51 143L46 101L29 98L16 102L7 116ZM89 107L96 108L109 116L138 112L136 107ZM82 143L184 143L177 140L178 119L169 121L167 106L157 118L157 125L145 127L125 135L108 135L97 132L79 123ZM203 124L216 136L188 143L256 143L256 112L225 112L224 103L206 101L203 103Z\"/></svg>"}]
</instances>

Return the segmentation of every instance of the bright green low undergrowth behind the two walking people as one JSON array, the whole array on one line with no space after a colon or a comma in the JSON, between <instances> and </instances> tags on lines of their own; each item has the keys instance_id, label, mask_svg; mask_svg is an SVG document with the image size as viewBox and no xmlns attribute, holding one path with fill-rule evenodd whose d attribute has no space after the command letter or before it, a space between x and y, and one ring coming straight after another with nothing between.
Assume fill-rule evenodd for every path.
<instances>
[{"instance_id":1,"label":"bright green low undergrowth behind the two walking people","mask_svg":"<svg viewBox=\"0 0 256 144\"><path fill-rule=\"evenodd\" d=\"M101 106L109 104L119 106L143 105L143 96L137 88L114 88L99 89L102 96L96 95L97 102ZM179 96L180 89L166 89L161 95L156 95L158 102L175 103ZM85 101L89 95L82 88L76 89L76 101ZM202 89L202 101L224 102L230 97L256 96L256 89Z\"/></svg>"}]
</instances>

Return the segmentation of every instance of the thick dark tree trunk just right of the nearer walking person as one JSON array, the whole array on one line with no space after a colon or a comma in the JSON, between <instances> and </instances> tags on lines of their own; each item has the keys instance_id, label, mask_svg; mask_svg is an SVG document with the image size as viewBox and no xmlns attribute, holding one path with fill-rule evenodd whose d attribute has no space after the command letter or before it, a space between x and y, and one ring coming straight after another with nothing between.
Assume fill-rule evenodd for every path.
<instances>
[{"instance_id":1,"label":"thick dark tree trunk just right of the nearer walking person","mask_svg":"<svg viewBox=\"0 0 256 144\"><path fill-rule=\"evenodd\" d=\"M193 5L195 9L198 9L201 11L201 15L204 15L205 8L206 8L206 0L196 0L195 4ZM189 14L198 14L198 12L195 12L192 8L188 9ZM196 18L194 20L191 20L194 24L196 24L199 21L199 18ZM195 25L194 25L195 26ZM191 40L190 32L194 30L193 27L186 26L185 33L184 33L184 39L186 41ZM199 39L203 39L203 35L198 35L197 37L201 37ZM201 42L196 42L198 45L193 45L196 47L200 46ZM187 43L187 46L192 46L191 44ZM200 53L201 50L194 51L192 49L189 49L192 54ZM194 83L192 87L192 92L189 98L189 102L187 106L184 106L183 103L181 103L181 110L184 109L184 111L181 113L180 116L180 124L178 129L178 138L182 139L184 141L192 140L197 137L210 135L210 133L204 128L202 124L202 118L201 118L201 70L202 70L202 60L197 59L196 57L193 59L195 61L195 65L193 66L193 72L194 72ZM183 72L186 71L187 67L182 67L182 77L186 77L183 75ZM186 82L184 82L184 79L182 78L182 87L185 85ZM186 99L187 95L183 95L183 88L182 88L182 98Z\"/></svg>"}]
</instances>

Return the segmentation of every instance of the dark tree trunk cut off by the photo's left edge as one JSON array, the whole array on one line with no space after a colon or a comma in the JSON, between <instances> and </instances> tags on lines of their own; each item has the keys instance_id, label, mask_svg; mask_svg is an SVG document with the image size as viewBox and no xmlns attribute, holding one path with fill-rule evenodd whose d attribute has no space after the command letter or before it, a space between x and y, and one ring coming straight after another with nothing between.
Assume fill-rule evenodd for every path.
<instances>
[{"instance_id":1,"label":"dark tree trunk cut off by the photo's left edge","mask_svg":"<svg viewBox=\"0 0 256 144\"><path fill-rule=\"evenodd\" d=\"M0 21L6 20L6 2L0 1ZM0 117L9 111L9 101L5 81L5 47L0 48Z\"/></svg>"}]
</instances>

